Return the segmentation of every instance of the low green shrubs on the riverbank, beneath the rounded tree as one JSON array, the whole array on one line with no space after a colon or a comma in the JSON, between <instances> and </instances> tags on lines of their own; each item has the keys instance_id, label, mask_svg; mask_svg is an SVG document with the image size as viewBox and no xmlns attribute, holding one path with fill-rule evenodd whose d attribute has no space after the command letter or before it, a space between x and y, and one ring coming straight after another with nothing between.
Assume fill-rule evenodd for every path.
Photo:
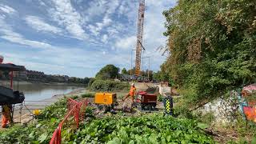
<instances>
[{"instance_id":1,"label":"low green shrubs on the riverbank, beneath the rounded tree","mask_svg":"<svg viewBox=\"0 0 256 144\"><path fill-rule=\"evenodd\" d=\"M129 83L111 80L95 80L90 86L90 89L94 91L129 90Z\"/></svg>"}]
</instances>

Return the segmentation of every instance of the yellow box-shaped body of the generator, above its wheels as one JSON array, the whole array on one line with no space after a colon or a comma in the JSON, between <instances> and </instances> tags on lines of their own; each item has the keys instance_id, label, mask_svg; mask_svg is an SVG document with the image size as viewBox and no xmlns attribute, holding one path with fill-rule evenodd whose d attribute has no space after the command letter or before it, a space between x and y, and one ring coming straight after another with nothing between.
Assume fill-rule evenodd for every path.
<instances>
[{"instance_id":1,"label":"yellow box-shaped body of the generator, above its wheels","mask_svg":"<svg viewBox=\"0 0 256 144\"><path fill-rule=\"evenodd\" d=\"M96 93L94 102L95 104L112 105L117 100L117 94L115 93Z\"/></svg>"}]
</instances>

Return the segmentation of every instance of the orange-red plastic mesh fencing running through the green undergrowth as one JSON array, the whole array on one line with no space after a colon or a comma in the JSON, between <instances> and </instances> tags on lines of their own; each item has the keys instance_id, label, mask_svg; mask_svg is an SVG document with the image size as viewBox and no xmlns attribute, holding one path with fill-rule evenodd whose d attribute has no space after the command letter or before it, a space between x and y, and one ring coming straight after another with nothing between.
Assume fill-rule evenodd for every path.
<instances>
[{"instance_id":1,"label":"orange-red plastic mesh fencing running through the green undergrowth","mask_svg":"<svg viewBox=\"0 0 256 144\"><path fill-rule=\"evenodd\" d=\"M54 130L53 137L50 140L50 144L61 144L62 142L62 127L68 122L74 122L78 128L79 122L83 120L86 106L88 106L88 99L83 99L79 102L69 98L67 102L67 114L65 118L58 124L56 130Z\"/></svg>"}]
</instances>

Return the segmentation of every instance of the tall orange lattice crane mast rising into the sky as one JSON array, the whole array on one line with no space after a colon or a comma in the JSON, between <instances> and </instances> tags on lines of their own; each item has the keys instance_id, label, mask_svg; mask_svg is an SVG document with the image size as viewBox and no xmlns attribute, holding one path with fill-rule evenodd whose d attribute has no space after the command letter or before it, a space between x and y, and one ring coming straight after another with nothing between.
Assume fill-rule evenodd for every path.
<instances>
[{"instance_id":1,"label":"tall orange lattice crane mast rising into the sky","mask_svg":"<svg viewBox=\"0 0 256 144\"><path fill-rule=\"evenodd\" d=\"M144 25L144 14L145 14L145 0L139 0L138 7L138 34L137 34L137 45L136 45L136 60L135 60L135 75L141 74L141 60L142 60L142 37L143 37L143 25Z\"/></svg>"}]
</instances>

